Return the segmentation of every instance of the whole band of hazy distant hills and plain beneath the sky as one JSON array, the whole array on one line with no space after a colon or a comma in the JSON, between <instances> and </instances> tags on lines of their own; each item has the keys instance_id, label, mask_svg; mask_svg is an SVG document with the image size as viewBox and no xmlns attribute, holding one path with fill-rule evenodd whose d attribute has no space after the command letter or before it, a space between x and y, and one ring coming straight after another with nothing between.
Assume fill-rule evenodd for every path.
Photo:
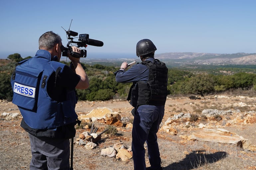
<instances>
[{"instance_id":1,"label":"whole band of hazy distant hills and plain beneath the sky","mask_svg":"<svg viewBox=\"0 0 256 170\"><path fill-rule=\"evenodd\" d=\"M226 67L235 66L239 68L248 67L256 69L256 53L235 53L235 54L217 54L217 53L193 53L193 52L169 52L155 54L155 58L165 62L167 67L179 67L179 68L194 68L201 67ZM9 60L9 59L5 59ZM67 61L66 57L62 57L62 61ZM81 58L80 61L84 64L94 65L100 64L104 66L120 67L120 65L127 61L136 61L140 63L139 57L133 58L127 56L120 56L119 58ZM250 67L249 67L250 65Z\"/></svg>"}]
</instances>

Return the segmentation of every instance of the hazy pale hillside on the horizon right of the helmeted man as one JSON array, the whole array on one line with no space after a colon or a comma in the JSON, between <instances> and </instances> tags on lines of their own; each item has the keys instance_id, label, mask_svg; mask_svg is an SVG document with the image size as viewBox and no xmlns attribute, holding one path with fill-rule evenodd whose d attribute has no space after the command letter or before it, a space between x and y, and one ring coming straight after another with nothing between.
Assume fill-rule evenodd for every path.
<instances>
[{"instance_id":1,"label":"hazy pale hillside on the horizon right of the helmeted man","mask_svg":"<svg viewBox=\"0 0 256 170\"><path fill-rule=\"evenodd\" d=\"M162 53L156 54L156 58L167 63L195 64L195 65L256 65L256 53Z\"/></svg>"}]
</instances>

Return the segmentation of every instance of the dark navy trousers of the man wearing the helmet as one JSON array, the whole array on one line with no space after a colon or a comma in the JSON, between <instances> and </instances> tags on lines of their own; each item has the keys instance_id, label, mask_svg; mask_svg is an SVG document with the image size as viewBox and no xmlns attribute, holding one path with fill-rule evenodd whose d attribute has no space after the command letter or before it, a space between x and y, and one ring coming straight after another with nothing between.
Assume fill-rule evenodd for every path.
<instances>
[{"instance_id":1,"label":"dark navy trousers of the man wearing the helmet","mask_svg":"<svg viewBox=\"0 0 256 170\"><path fill-rule=\"evenodd\" d=\"M152 169L161 167L157 132L164 116L164 106L141 105L134 115L132 129L132 152L134 170L146 170L144 143L148 145Z\"/></svg>"}]
</instances>

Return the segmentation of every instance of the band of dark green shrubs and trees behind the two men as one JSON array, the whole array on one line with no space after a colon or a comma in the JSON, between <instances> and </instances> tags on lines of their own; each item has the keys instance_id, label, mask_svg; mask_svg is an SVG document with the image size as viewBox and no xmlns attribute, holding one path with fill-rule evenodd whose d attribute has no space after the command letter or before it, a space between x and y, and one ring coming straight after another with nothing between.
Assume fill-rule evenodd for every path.
<instances>
[{"instance_id":1,"label":"band of dark green shrubs and trees behind the two men","mask_svg":"<svg viewBox=\"0 0 256 170\"><path fill-rule=\"evenodd\" d=\"M24 59L15 53L8 59L0 61L0 99L12 100L10 78L15 69L15 63ZM69 65L69 63L63 62ZM109 100L126 98L131 84L122 84L115 81L114 72L119 66L104 66L97 63L83 64L90 87L86 90L77 90L79 100ZM233 90L256 90L256 74L254 69L237 66L169 68L168 95L199 95L218 94Z\"/></svg>"}]
</instances>

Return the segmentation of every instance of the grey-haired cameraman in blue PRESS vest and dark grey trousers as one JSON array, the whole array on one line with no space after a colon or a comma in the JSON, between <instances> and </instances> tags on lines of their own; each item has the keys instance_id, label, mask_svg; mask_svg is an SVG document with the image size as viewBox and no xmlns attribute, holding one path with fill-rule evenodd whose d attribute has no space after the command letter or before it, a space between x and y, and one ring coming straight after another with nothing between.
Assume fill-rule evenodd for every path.
<instances>
[{"instance_id":1,"label":"grey-haired cameraman in blue PRESS vest and dark grey trousers","mask_svg":"<svg viewBox=\"0 0 256 170\"><path fill-rule=\"evenodd\" d=\"M29 102L22 103L23 94L19 94L21 91L14 89L14 95L17 97L13 99L13 103L18 103L23 116L21 127L29 133L32 152L31 170L70 169L69 139L75 136L74 126L78 121L74 110L77 103L75 89L88 88L89 81L80 59L72 57L70 51L67 55L73 69L59 63L62 55L61 47L62 39L58 34L52 31L44 33L39 38L39 50L36 56L21 61L16 67L16 77L13 76L15 80L11 80L13 89L17 84L21 86L20 89L22 85L30 88L29 82L25 82L26 78L23 78L23 75L40 72L35 73L39 75L40 81L36 86L35 97L27 97L35 99L36 104L33 109L28 108ZM80 53L77 47L72 47L72 50ZM27 68L27 73L23 75L18 74L18 70L22 67ZM18 80L24 82L17 82Z\"/></svg>"}]
</instances>

